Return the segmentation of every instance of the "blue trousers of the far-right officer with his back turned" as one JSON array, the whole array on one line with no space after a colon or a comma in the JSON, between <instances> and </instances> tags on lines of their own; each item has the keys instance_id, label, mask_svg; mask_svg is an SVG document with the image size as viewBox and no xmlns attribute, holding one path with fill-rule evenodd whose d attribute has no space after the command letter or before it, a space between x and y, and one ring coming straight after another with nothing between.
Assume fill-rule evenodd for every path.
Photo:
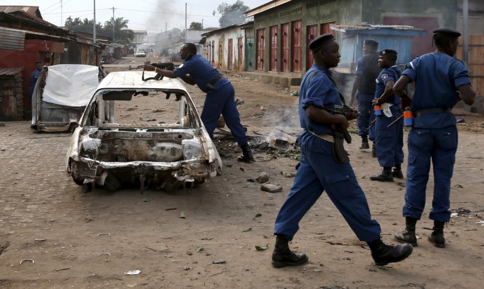
<instances>
[{"instance_id":1,"label":"blue trousers of the far-right officer with his back turned","mask_svg":"<svg viewBox=\"0 0 484 289\"><path fill-rule=\"evenodd\" d=\"M451 178L456 162L457 126L441 129L414 128L408 136L407 190L403 216L419 219L425 208L430 161L434 167L434 198L429 218L450 221Z\"/></svg>"}]
</instances>

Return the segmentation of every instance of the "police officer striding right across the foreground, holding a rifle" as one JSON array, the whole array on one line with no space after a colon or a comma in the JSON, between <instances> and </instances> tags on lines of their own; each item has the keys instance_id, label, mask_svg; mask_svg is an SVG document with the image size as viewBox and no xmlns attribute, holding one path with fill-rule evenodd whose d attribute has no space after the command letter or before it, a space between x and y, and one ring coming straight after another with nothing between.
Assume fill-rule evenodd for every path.
<instances>
[{"instance_id":1,"label":"police officer striding right across the foreground, holding a rifle","mask_svg":"<svg viewBox=\"0 0 484 289\"><path fill-rule=\"evenodd\" d=\"M293 186L275 220L272 266L280 268L307 262L308 257L292 252L288 242L299 229L299 221L323 191L356 236L368 243L376 265L402 261L412 253L412 246L389 246L382 242L380 225L371 219L365 193L356 181L349 160L338 162L333 156L336 130L346 130L348 120L356 118L354 112L348 114L347 119L327 111L342 105L329 70L338 66L339 44L332 34L324 34L311 41L309 49L314 64L301 82L299 97L299 119L304 129L299 138L301 160Z\"/></svg>"}]
</instances>

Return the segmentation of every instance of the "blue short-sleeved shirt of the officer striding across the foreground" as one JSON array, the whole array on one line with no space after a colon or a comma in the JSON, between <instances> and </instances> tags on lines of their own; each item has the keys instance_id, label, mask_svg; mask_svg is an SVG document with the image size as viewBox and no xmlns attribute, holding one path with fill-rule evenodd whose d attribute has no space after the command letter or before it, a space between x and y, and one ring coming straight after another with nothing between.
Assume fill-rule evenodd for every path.
<instances>
[{"instance_id":1,"label":"blue short-sleeved shirt of the officer striding across the foreground","mask_svg":"<svg viewBox=\"0 0 484 289\"><path fill-rule=\"evenodd\" d=\"M315 72L315 71L323 72ZM313 66L306 72L301 82L299 96L299 121L301 128L316 135L332 135L331 124L321 124L310 120L306 115L306 108L313 105L317 108L331 109L335 105L342 105L339 92L330 79L332 72L324 67Z\"/></svg>"}]
</instances>

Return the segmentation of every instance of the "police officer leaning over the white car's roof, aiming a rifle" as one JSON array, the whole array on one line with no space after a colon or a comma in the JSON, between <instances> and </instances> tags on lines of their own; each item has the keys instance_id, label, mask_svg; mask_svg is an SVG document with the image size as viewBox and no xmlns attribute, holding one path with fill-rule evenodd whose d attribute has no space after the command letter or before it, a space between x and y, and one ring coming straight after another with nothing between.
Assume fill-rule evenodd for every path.
<instances>
[{"instance_id":1,"label":"police officer leaning over the white car's roof, aiming a rifle","mask_svg":"<svg viewBox=\"0 0 484 289\"><path fill-rule=\"evenodd\" d=\"M250 162L254 160L248 146L248 137L242 127L239 111L235 103L235 90L232 83L215 69L203 56L197 54L197 46L185 43L180 48L180 57L184 62L173 71L148 65L145 70L156 71L170 78L180 77L190 85L197 85L207 93L201 119L210 137L214 138L220 114L224 117L227 127L242 148L242 155L237 159Z\"/></svg>"}]
</instances>

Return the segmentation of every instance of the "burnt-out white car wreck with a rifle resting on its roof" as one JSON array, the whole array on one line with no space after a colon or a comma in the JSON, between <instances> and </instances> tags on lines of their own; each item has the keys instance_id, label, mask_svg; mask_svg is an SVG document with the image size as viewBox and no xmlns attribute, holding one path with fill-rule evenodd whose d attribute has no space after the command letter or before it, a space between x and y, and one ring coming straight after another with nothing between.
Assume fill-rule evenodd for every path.
<instances>
[{"instance_id":1,"label":"burnt-out white car wreck with a rifle resting on its roof","mask_svg":"<svg viewBox=\"0 0 484 289\"><path fill-rule=\"evenodd\" d=\"M219 153L180 80L144 82L141 76L137 71L112 72L94 92L66 157L67 172L76 184L173 190L221 171ZM140 118L140 113L133 117L129 113L137 104L149 104L150 116L167 123L153 123L156 119Z\"/></svg>"}]
</instances>

